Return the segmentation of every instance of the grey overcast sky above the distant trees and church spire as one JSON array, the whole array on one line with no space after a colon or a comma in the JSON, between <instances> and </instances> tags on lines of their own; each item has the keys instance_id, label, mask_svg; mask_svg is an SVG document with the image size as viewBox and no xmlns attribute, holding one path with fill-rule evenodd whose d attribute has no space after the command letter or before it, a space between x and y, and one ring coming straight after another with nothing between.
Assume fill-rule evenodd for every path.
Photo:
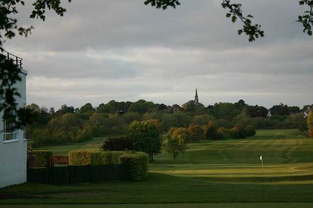
<instances>
[{"instance_id":1,"label":"grey overcast sky above the distant trees and church spire","mask_svg":"<svg viewBox=\"0 0 313 208\"><path fill-rule=\"evenodd\" d=\"M157 10L144 0L63 0L67 12L29 19L27 38L4 48L23 58L27 103L59 108L145 99L181 105L194 98L205 106L237 102L271 107L313 103L313 38L295 22L297 0L233 0L265 30L249 43L241 24L225 18L222 0L181 0Z\"/></svg>"}]
</instances>

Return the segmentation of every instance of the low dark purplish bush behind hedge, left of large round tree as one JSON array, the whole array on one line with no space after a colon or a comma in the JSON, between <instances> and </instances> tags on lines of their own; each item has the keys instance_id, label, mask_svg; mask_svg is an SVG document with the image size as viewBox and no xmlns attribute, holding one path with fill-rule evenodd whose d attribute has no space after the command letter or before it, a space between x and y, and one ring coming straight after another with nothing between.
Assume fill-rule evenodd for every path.
<instances>
[{"instance_id":1,"label":"low dark purplish bush behind hedge, left of large round tree","mask_svg":"<svg viewBox=\"0 0 313 208\"><path fill-rule=\"evenodd\" d=\"M111 137L109 140L103 142L101 146L103 151L124 151L133 150L133 142L128 137Z\"/></svg>"}]
</instances>

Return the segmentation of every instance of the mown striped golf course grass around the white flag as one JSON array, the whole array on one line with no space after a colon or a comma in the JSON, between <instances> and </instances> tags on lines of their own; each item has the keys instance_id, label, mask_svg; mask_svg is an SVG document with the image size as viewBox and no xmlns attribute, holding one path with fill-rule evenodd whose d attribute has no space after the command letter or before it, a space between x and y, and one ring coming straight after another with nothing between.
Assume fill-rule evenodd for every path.
<instances>
[{"instance_id":1,"label":"mown striped golf course grass around the white flag","mask_svg":"<svg viewBox=\"0 0 313 208\"><path fill-rule=\"evenodd\" d=\"M113 205L120 203L136 204L130 207L138 208L313 207L310 204L313 203L313 140L295 136L293 132L295 130L261 130L256 136L247 139L189 144L189 149L177 160L162 152L150 165L148 179L142 182L69 186L25 183L10 186L0 189L0 193L28 194L29 199L0 200L0 204L84 203L112 204L107 207L113 208L125 207ZM55 155L62 155L72 150L71 148L96 150L92 144L97 142L41 148L51 149ZM264 174L260 155L264 158ZM221 202L232 204L157 205ZM145 205L153 203L157 204ZM90 208L97 206L88 205Z\"/></svg>"}]
</instances>

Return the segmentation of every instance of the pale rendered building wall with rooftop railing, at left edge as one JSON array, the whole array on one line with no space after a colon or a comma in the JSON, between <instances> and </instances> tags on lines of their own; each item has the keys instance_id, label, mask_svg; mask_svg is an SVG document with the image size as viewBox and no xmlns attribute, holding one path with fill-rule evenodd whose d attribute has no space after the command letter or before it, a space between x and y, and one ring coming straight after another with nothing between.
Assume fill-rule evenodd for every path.
<instances>
[{"instance_id":1,"label":"pale rendered building wall with rooftop railing, at left edge","mask_svg":"<svg viewBox=\"0 0 313 208\"><path fill-rule=\"evenodd\" d=\"M18 60L15 57L15 60ZM21 60L21 62L20 62ZM18 61L16 61L18 62ZM19 59L19 66L22 59ZM18 108L26 104L26 75L21 68L22 81L15 84L21 97L16 97ZM26 182L27 140L24 129L15 128L15 122L4 121L0 113L0 188Z\"/></svg>"}]
</instances>

